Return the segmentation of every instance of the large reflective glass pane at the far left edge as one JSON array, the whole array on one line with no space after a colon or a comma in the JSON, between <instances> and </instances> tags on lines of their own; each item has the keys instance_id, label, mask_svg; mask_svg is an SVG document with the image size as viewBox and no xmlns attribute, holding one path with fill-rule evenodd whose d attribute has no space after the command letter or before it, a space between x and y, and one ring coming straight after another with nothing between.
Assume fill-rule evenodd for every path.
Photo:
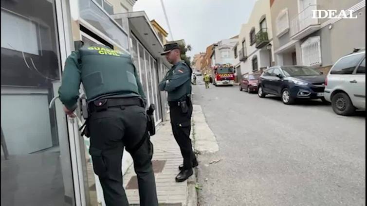
<instances>
[{"instance_id":1,"label":"large reflective glass pane at the far left edge","mask_svg":"<svg viewBox=\"0 0 367 206\"><path fill-rule=\"evenodd\" d=\"M30 9L31 8L31 9ZM1 0L1 205L75 205L54 0Z\"/></svg>"}]
</instances>

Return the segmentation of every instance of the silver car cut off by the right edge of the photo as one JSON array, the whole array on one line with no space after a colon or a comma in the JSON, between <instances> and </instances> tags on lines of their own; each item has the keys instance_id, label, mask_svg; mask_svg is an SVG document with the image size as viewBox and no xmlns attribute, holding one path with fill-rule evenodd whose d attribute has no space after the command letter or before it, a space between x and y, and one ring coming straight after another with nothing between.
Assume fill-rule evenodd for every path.
<instances>
[{"instance_id":1,"label":"silver car cut off by the right edge of the photo","mask_svg":"<svg viewBox=\"0 0 367 206\"><path fill-rule=\"evenodd\" d=\"M366 50L354 49L330 69L325 81L325 99L338 115L366 110Z\"/></svg>"}]
</instances>

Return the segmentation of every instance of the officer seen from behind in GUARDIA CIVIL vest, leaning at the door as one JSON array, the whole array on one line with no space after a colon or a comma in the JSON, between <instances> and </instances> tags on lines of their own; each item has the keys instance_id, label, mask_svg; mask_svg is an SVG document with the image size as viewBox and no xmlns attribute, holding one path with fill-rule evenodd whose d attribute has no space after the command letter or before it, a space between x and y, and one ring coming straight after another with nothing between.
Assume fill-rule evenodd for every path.
<instances>
[{"instance_id":1,"label":"officer seen from behind in GUARDIA CIVIL vest, leaning at the door","mask_svg":"<svg viewBox=\"0 0 367 206\"><path fill-rule=\"evenodd\" d=\"M82 47L67 58L58 93L65 113L71 117L80 83L88 101L89 153L106 205L128 206L121 171L126 147L138 177L140 205L158 206L145 95L130 56L96 44Z\"/></svg>"}]
</instances>

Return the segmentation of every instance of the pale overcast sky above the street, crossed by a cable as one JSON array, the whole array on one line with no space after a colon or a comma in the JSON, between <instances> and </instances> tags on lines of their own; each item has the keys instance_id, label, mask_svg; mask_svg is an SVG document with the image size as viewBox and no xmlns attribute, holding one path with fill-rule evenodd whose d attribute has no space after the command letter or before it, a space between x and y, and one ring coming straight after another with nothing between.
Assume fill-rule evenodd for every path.
<instances>
[{"instance_id":1,"label":"pale overcast sky above the street, crossed by a cable","mask_svg":"<svg viewBox=\"0 0 367 206\"><path fill-rule=\"evenodd\" d=\"M256 0L163 0L174 40L184 39L193 56L221 39L239 34ZM161 0L137 0L134 11L145 11L169 32ZM171 40L168 34L167 40Z\"/></svg>"}]
</instances>

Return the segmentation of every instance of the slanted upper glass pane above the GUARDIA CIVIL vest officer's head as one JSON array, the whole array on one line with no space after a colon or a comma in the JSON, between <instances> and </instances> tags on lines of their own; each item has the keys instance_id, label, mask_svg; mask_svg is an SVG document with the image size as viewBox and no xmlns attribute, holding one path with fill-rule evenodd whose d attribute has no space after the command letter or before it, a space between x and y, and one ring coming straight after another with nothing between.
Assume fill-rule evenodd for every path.
<instances>
[{"instance_id":1,"label":"slanted upper glass pane above the GUARDIA CIVIL vest officer's head","mask_svg":"<svg viewBox=\"0 0 367 206\"><path fill-rule=\"evenodd\" d=\"M79 0L80 17L108 36L122 48L128 49L128 34L92 0Z\"/></svg>"}]
</instances>

